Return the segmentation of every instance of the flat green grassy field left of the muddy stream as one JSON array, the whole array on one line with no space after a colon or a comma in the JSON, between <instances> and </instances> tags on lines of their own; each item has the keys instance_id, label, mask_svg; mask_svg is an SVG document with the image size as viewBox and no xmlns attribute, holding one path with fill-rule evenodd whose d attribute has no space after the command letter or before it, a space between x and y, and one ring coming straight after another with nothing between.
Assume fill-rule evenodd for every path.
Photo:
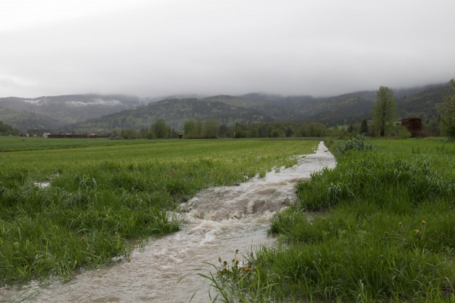
<instances>
[{"instance_id":1,"label":"flat green grassy field left of the muddy stream","mask_svg":"<svg viewBox=\"0 0 455 303\"><path fill-rule=\"evenodd\" d=\"M296 163L318 141L0 137L0 285L128 258L200 189Z\"/></svg>"}]
</instances>

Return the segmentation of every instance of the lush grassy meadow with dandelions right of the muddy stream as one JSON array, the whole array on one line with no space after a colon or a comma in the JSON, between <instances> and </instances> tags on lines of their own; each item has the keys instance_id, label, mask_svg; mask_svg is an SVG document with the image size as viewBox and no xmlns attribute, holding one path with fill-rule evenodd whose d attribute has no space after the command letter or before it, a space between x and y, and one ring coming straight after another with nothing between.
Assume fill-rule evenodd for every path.
<instances>
[{"instance_id":1,"label":"lush grassy meadow with dandelions right of the muddy stream","mask_svg":"<svg viewBox=\"0 0 455 303\"><path fill-rule=\"evenodd\" d=\"M263 247L205 275L225 302L455 302L455 142L326 142ZM220 261L221 262L221 261Z\"/></svg>"}]
</instances>

